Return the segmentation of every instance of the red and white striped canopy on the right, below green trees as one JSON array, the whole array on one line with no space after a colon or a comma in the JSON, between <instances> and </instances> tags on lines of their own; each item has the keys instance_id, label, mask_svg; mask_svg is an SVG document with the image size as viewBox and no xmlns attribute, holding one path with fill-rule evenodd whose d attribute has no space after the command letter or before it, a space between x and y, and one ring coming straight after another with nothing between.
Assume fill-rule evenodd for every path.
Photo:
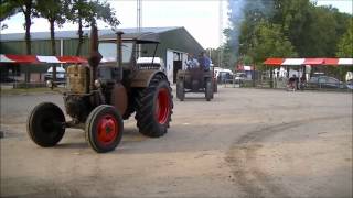
<instances>
[{"instance_id":1,"label":"red and white striped canopy on the right, below green trees","mask_svg":"<svg viewBox=\"0 0 353 198\"><path fill-rule=\"evenodd\" d=\"M353 58L267 58L265 65L281 66L281 65L353 65Z\"/></svg>"}]
</instances>

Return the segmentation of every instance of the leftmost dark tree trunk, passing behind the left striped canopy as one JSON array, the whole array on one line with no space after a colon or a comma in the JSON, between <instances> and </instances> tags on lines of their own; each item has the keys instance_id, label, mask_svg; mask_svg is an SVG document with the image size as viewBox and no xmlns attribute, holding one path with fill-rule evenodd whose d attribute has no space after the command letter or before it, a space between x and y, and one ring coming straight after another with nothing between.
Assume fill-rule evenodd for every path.
<instances>
[{"instance_id":1,"label":"leftmost dark tree trunk, passing behind the left striped canopy","mask_svg":"<svg viewBox=\"0 0 353 198\"><path fill-rule=\"evenodd\" d=\"M32 12L32 1L28 1L25 3L25 10L24 10L24 20L25 20L25 50L26 54L31 55L31 12ZM24 81L30 82L30 68L29 66L24 66Z\"/></svg>"}]
</instances>

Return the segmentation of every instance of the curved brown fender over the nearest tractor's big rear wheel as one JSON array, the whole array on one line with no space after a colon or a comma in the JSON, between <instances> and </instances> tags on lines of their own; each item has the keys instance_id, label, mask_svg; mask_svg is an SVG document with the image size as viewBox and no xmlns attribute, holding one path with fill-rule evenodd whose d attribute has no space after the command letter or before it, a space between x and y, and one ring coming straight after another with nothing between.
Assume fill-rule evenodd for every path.
<instances>
[{"instance_id":1,"label":"curved brown fender over the nearest tractor's big rear wheel","mask_svg":"<svg viewBox=\"0 0 353 198\"><path fill-rule=\"evenodd\" d=\"M138 70L131 79L130 87L148 87L156 75L162 75L167 79L167 75L161 70Z\"/></svg>"}]
</instances>

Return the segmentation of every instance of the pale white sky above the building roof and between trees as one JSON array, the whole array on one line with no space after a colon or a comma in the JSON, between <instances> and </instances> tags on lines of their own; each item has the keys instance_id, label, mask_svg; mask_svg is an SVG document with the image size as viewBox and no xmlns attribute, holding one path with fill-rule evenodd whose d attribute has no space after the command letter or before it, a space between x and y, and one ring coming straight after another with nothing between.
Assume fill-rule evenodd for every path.
<instances>
[{"instance_id":1,"label":"pale white sky above the building roof and between trees","mask_svg":"<svg viewBox=\"0 0 353 198\"><path fill-rule=\"evenodd\" d=\"M340 12L353 13L352 0L312 0L318 6L332 6ZM137 2L136 0L108 0L116 10L117 18L121 22L119 28L136 28L137 25ZM220 8L223 14L220 18ZM204 47L217 47L222 36L222 29L227 28L227 1L226 0L142 0L142 26L184 26ZM222 20L221 20L222 19ZM221 23L222 21L222 23ZM23 14L17 14L3 21L8 29L6 33L23 33ZM221 25L222 24L222 25ZM108 28L104 23L98 29ZM67 23L62 29L77 30L76 24ZM45 19L34 19L31 26L32 32L49 31L49 23Z\"/></svg>"}]
</instances>

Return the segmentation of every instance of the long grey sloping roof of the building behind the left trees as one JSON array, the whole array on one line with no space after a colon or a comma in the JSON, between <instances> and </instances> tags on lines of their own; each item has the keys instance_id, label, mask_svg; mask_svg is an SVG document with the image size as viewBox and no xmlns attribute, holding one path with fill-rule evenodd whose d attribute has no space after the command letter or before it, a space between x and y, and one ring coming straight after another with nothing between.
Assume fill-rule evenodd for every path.
<instances>
[{"instance_id":1,"label":"long grey sloping roof of the building behind the left trees","mask_svg":"<svg viewBox=\"0 0 353 198\"><path fill-rule=\"evenodd\" d=\"M141 28L142 33L152 32L152 33L163 33L176 29L182 29L181 26L165 26L165 28ZM90 30L84 30L84 36L89 36ZM127 34L137 33L137 29L118 29L116 31L113 31L110 29L103 29L98 30L98 36L103 35L111 35L115 34L115 32L121 31ZM38 41L38 40L50 40L51 35L50 32L31 32L31 40ZM77 38L77 31L56 31L55 32L55 38L56 40L67 40L67 38ZM0 34L0 41L23 41L24 40L24 33L10 33L10 34Z\"/></svg>"}]
</instances>

